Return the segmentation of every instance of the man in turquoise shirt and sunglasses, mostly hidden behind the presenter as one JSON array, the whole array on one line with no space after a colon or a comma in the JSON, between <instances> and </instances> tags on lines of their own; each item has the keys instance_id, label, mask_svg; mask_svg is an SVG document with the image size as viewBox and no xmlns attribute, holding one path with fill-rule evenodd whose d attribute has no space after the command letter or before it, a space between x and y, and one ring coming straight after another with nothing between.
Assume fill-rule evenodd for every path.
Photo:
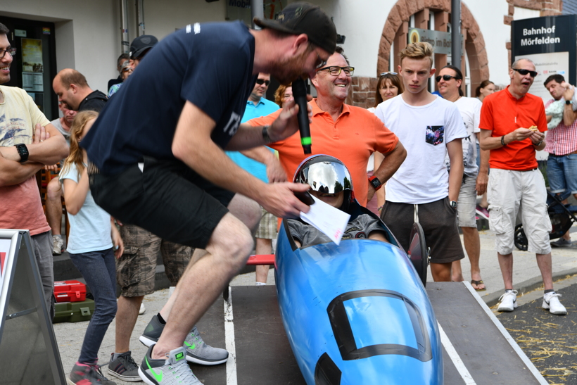
<instances>
[{"instance_id":1,"label":"man in turquoise shirt and sunglasses, mostly hidden behind the presenter","mask_svg":"<svg viewBox=\"0 0 577 385\"><path fill-rule=\"evenodd\" d=\"M248 96L248 101L246 101L246 109L241 122L248 122L248 120L253 118L269 115L279 109L277 103L267 100L264 97L267 94L269 84L270 74L258 74L255 87L253 88L251 95ZM286 182L286 174L280 167L277 157L274 156L274 151L271 149L263 153L263 158L259 158L259 161L253 160L239 151L227 151L227 155L234 160L234 163L243 168L243 170L246 170L250 172L251 175L258 177L262 182ZM255 234L255 253L271 254L272 239L277 239L277 217L262 208L262 206L260 209L262 217L260 218L260 223L258 224L258 229ZM259 265L256 267L255 283L257 285L264 285L267 283L268 271L268 266Z\"/></svg>"}]
</instances>

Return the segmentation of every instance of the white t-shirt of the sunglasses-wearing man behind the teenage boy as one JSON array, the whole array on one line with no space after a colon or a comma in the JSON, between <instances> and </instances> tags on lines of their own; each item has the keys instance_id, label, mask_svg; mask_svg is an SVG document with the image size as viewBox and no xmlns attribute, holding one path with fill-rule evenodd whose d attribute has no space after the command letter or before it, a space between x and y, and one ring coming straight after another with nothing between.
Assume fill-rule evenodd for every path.
<instances>
[{"instance_id":1,"label":"white t-shirt of the sunglasses-wearing man behind the teenage boy","mask_svg":"<svg viewBox=\"0 0 577 385\"><path fill-rule=\"evenodd\" d=\"M478 122L481 119L481 103L477 98L461 97L455 101L455 106L459 108L461 118L467 129L467 137L463 139L463 165L464 174L471 178L476 178L478 174L477 166L477 146L476 133L480 132ZM445 156L445 165L450 169L449 154Z\"/></svg>"}]
</instances>

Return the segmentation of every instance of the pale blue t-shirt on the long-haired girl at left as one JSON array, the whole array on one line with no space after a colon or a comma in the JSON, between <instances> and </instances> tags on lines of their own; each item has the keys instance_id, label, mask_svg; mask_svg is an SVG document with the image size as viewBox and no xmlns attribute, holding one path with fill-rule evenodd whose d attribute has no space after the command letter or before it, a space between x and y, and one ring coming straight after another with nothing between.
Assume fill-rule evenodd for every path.
<instances>
[{"instance_id":1,"label":"pale blue t-shirt on the long-haired girl at left","mask_svg":"<svg viewBox=\"0 0 577 385\"><path fill-rule=\"evenodd\" d=\"M64 179L72 179L78 183L80 177L75 164L72 163L67 172L61 172L60 181L64 182ZM64 187L62 188L64 191ZM110 235L110 214L94 202L90 190L80 211L76 215L68 213L68 220L70 220L70 236L66 246L68 253L101 251L113 246Z\"/></svg>"}]
</instances>

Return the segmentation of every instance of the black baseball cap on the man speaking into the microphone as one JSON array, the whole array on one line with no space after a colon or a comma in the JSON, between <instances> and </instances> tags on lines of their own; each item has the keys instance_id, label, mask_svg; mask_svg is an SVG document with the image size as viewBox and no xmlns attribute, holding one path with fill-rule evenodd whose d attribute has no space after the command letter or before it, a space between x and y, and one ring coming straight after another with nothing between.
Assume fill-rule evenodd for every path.
<instances>
[{"instance_id":1,"label":"black baseball cap on the man speaking into the microphone","mask_svg":"<svg viewBox=\"0 0 577 385\"><path fill-rule=\"evenodd\" d=\"M289 34L307 35L312 44L333 54L336 48L336 27L319 7L309 3L292 3L277 15L276 20L254 18L255 25Z\"/></svg>"}]
</instances>

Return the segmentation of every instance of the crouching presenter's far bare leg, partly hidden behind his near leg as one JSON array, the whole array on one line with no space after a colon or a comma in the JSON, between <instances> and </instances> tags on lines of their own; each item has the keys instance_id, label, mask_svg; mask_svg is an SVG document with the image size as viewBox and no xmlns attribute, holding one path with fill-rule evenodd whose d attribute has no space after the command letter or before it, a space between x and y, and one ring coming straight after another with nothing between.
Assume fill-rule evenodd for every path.
<instances>
[{"instance_id":1,"label":"crouching presenter's far bare leg, partly hidden behind his near leg","mask_svg":"<svg viewBox=\"0 0 577 385\"><path fill-rule=\"evenodd\" d=\"M258 227L258 223L260 222L261 215L260 206L258 206L258 203L253 201L251 198L247 198L241 194L235 194L229 203L228 209L232 215L239 218L239 220L241 220L241 222L243 222L249 229L251 229L251 232L254 234L256 228ZM206 253L207 251L202 248L195 248L194 252L192 253L189 265L186 266L184 274L189 273L191 267L193 267L198 260L203 258ZM180 282L182 282L182 278L179 280L177 286L175 287L175 291L172 293L172 296L168 298L168 301L165 303L162 310L160 310L160 315L165 321L168 321L170 317L170 310L175 304L175 299L179 293Z\"/></svg>"}]
</instances>

